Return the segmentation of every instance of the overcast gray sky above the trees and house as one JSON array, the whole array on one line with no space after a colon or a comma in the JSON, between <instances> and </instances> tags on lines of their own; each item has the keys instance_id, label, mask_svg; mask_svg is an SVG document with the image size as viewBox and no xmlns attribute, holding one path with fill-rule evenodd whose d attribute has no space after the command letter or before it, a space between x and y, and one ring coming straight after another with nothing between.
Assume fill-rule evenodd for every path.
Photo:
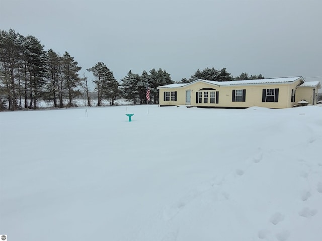
<instances>
[{"instance_id":1,"label":"overcast gray sky above the trees and house","mask_svg":"<svg viewBox=\"0 0 322 241\"><path fill-rule=\"evenodd\" d=\"M321 0L0 0L0 29L67 51L90 79L103 62L118 80L225 67L322 82L321 11Z\"/></svg>"}]
</instances>

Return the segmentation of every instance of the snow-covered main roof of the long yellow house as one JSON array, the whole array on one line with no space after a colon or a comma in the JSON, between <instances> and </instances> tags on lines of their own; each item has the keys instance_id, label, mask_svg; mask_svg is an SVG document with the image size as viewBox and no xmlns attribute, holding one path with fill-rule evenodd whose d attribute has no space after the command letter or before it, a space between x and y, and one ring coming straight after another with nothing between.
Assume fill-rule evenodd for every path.
<instances>
[{"instance_id":1,"label":"snow-covered main roof of the long yellow house","mask_svg":"<svg viewBox=\"0 0 322 241\"><path fill-rule=\"evenodd\" d=\"M217 86L291 83L299 78L301 78L301 77L285 77L285 78L272 78L272 79L248 79L248 80L233 80L233 81L220 81L220 82L219 81L204 80L204 79L197 79L193 82L186 83L186 84L168 84L168 85L164 85L164 86L158 86L157 88L179 88L179 87L193 84L198 81L206 82L206 83L217 85Z\"/></svg>"}]
</instances>

